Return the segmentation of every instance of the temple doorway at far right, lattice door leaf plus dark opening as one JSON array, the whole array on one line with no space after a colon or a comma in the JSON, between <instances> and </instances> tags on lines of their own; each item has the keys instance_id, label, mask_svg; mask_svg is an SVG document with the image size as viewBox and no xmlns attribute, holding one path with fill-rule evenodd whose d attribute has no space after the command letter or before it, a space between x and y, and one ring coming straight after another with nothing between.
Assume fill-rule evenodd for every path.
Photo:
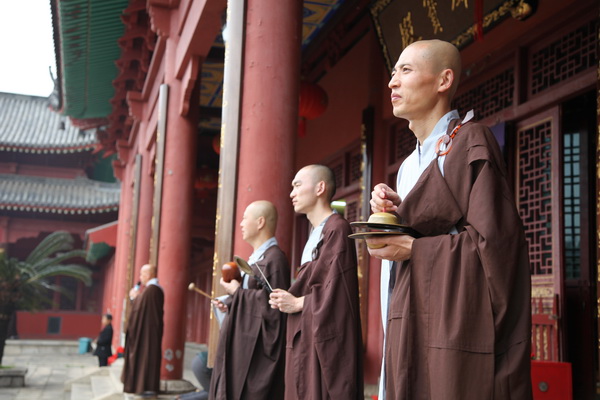
<instances>
[{"instance_id":1,"label":"temple doorway at far right, lattice door leaf plus dark opening","mask_svg":"<svg viewBox=\"0 0 600 400\"><path fill-rule=\"evenodd\" d=\"M516 125L516 185L529 243L540 360L572 364L574 398L592 398L598 371L598 148L595 92Z\"/></svg>"}]
</instances>

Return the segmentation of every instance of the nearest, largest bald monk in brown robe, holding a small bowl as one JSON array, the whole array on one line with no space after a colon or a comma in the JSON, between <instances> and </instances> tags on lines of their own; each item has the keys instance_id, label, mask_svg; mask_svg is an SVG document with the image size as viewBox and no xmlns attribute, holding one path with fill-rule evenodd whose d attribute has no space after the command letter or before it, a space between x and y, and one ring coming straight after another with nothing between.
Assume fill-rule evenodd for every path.
<instances>
[{"instance_id":1,"label":"nearest, largest bald monk in brown robe, holding a small bowl","mask_svg":"<svg viewBox=\"0 0 600 400\"><path fill-rule=\"evenodd\" d=\"M532 397L527 243L494 136L451 111L460 64L450 43L415 42L389 83L394 115L418 144L397 191L376 185L371 208L424 237L368 240L385 245L372 256L391 261L380 399Z\"/></svg>"}]
</instances>

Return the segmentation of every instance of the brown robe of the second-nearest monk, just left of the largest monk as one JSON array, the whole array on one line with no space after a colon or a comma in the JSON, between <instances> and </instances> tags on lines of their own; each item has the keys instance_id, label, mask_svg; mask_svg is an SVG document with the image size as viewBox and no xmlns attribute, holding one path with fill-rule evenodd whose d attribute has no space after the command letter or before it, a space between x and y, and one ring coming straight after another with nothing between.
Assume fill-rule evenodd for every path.
<instances>
[{"instance_id":1,"label":"brown robe of the second-nearest monk, just left of the largest monk","mask_svg":"<svg viewBox=\"0 0 600 400\"><path fill-rule=\"evenodd\" d=\"M290 288L305 296L288 316L286 400L364 399L356 248L348 222L329 217L313 261Z\"/></svg>"}]
</instances>

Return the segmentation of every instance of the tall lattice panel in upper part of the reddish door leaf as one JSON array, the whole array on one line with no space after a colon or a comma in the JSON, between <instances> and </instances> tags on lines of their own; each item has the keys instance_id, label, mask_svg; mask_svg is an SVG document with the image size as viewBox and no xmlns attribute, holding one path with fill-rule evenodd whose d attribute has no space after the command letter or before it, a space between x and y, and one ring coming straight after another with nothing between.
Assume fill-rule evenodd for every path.
<instances>
[{"instance_id":1,"label":"tall lattice panel in upper part of the reddish door leaf","mask_svg":"<svg viewBox=\"0 0 600 400\"><path fill-rule=\"evenodd\" d=\"M533 275L552 274L551 128L545 120L518 132L519 212Z\"/></svg>"}]
</instances>

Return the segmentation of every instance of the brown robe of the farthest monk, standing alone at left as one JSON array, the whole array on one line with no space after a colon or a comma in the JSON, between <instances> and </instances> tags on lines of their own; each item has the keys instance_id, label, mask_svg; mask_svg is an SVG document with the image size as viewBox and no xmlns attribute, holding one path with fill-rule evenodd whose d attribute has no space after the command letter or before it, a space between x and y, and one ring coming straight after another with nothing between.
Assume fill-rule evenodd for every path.
<instances>
[{"instance_id":1,"label":"brown robe of the farthest monk, standing alone at left","mask_svg":"<svg viewBox=\"0 0 600 400\"><path fill-rule=\"evenodd\" d=\"M121 380L125 393L158 393L164 293L148 285L133 301L125 337L125 364Z\"/></svg>"}]
</instances>

